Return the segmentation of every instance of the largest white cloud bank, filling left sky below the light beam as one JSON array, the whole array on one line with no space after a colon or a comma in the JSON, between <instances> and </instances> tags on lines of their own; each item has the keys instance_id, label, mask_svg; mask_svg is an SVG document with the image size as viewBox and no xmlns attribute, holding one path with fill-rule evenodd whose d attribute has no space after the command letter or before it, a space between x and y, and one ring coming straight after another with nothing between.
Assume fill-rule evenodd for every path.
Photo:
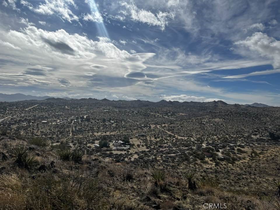
<instances>
[{"instance_id":1,"label":"largest white cloud bank, filling left sky below the light beam","mask_svg":"<svg viewBox=\"0 0 280 210\"><path fill-rule=\"evenodd\" d=\"M43 86L49 92L67 87L69 92L86 95L95 90L107 91L114 85L133 85L135 82L124 78L125 74L145 69L143 63L155 55L131 55L118 49L108 38L98 37L98 41L93 41L63 29L46 31L27 26L20 31L2 30L0 38L0 59L9 62L1 66L0 80L9 81L10 86ZM71 86L67 81L71 81Z\"/></svg>"}]
</instances>

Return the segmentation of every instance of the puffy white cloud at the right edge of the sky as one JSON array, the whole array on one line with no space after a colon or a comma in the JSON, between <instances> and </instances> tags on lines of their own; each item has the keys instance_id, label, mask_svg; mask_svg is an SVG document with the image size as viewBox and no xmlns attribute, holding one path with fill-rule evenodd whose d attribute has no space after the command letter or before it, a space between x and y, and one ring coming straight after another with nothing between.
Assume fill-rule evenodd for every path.
<instances>
[{"instance_id":1,"label":"puffy white cloud at the right edge of the sky","mask_svg":"<svg viewBox=\"0 0 280 210\"><path fill-rule=\"evenodd\" d=\"M280 41L275 38L269 37L262 32L256 32L243 41L235 42L235 44L248 48L250 51L256 52L262 57L273 59L274 68L280 67Z\"/></svg>"}]
</instances>

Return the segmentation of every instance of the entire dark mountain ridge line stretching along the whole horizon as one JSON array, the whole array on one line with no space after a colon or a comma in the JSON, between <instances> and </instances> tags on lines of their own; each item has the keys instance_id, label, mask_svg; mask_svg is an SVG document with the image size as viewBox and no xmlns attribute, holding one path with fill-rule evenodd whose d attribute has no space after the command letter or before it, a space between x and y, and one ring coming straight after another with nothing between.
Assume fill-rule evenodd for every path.
<instances>
[{"instance_id":1,"label":"entire dark mountain ridge line stretching along the whole horizon","mask_svg":"<svg viewBox=\"0 0 280 210\"><path fill-rule=\"evenodd\" d=\"M32 95L24 95L21 93L16 94L3 94L0 93L0 101L6 101L6 102L12 102L12 101L28 101L28 100L38 100L38 101L44 101L47 100L49 102L57 102L62 103L66 100L71 100L71 103L94 103L100 106L112 106L112 107L118 107L118 108L125 108L125 107L149 107L149 106L228 106L229 104L225 103L224 101L211 101L211 102L196 102L196 101L165 101L161 100L158 102L151 102L151 101L141 101L141 100L132 100L132 101L126 101L126 100L108 100L108 99L95 99L95 98L82 98L82 99L75 99L75 98L54 98L50 96L32 96ZM272 107L268 106L266 104L260 104L260 103L253 103L253 104L245 104L245 105L239 105L234 104L233 106L251 106L251 107Z\"/></svg>"}]
</instances>

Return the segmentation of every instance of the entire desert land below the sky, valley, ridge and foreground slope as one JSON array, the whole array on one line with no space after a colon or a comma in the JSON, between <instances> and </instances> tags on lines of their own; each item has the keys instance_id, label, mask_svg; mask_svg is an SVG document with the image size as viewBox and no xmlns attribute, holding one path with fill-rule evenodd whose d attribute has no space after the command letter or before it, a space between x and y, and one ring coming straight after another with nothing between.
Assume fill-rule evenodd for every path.
<instances>
[{"instance_id":1,"label":"entire desert land below the sky, valley, ridge and foreground slope","mask_svg":"<svg viewBox=\"0 0 280 210\"><path fill-rule=\"evenodd\" d=\"M279 115L223 101L1 102L0 209L277 209Z\"/></svg>"}]
</instances>

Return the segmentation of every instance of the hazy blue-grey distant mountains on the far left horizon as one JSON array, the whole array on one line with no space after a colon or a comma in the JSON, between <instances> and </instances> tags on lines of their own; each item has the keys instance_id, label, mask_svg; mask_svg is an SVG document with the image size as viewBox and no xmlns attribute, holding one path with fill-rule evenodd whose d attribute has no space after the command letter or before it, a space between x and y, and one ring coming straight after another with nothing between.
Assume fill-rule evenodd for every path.
<instances>
[{"instance_id":1,"label":"hazy blue-grey distant mountains on the far left horizon","mask_svg":"<svg viewBox=\"0 0 280 210\"><path fill-rule=\"evenodd\" d=\"M16 94L3 94L0 93L0 101L6 101L6 102L12 102L12 101L25 101L25 100L46 100L48 98L53 98L51 96L32 96L32 95L24 95L21 93ZM71 99L68 97L65 97L63 99Z\"/></svg>"}]
</instances>

